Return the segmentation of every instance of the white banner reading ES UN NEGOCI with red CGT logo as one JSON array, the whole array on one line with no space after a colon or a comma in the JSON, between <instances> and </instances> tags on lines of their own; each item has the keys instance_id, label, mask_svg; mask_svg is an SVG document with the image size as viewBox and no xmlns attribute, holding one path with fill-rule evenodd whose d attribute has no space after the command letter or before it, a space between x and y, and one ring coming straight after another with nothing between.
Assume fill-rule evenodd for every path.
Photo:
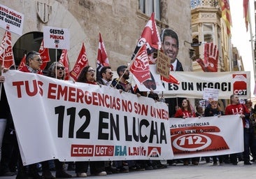
<instances>
[{"instance_id":1,"label":"white banner reading ES UN NEGOCI with red CGT logo","mask_svg":"<svg viewBox=\"0 0 256 179\"><path fill-rule=\"evenodd\" d=\"M191 72L173 71L171 75L180 84L164 83L164 96L203 98L204 88L220 90L219 99L229 99L231 94L238 94L241 99L250 98L250 71L232 72Z\"/></svg>"}]
</instances>

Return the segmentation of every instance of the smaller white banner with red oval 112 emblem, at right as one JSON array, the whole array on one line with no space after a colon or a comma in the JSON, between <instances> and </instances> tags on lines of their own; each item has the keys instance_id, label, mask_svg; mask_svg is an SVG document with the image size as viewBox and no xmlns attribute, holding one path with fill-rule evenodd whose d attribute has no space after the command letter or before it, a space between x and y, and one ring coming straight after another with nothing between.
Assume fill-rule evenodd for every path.
<instances>
[{"instance_id":1,"label":"smaller white banner with red oval 112 emblem, at right","mask_svg":"<svg viewBox=\"0 0 256 179\"><path fill-rule=\"evenodd\" d=\"M239 115L169 121L175 159L243 152L243 122Z\"/></svg>"}]
</instances>

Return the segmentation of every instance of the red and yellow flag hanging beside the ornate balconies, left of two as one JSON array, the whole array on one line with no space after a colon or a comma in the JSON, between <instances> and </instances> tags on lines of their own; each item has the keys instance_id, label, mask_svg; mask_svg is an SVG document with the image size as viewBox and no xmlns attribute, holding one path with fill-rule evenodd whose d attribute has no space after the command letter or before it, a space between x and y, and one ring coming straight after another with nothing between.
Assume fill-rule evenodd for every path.
<instances>
[{"instance_id":1,"label":"red and yellow flag hanging beside the ornate balconies, left of two","mask_svg":"<svg viewBox=\"0 0 256 179\"><path fill-rule=\"evenodd\" d=\"M220 0L222 18L227 26L227 35L231 35L230 27L232 26L231 13L229 7L229 0Z\"/></svg>"}]
</instances>

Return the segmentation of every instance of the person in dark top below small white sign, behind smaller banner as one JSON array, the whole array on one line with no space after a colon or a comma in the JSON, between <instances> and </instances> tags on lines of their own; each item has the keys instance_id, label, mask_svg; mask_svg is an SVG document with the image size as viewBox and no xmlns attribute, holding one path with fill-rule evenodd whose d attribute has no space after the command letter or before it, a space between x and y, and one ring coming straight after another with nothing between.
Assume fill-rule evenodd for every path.
<instances>
[{"instance_id":1,"label":"person in dark top below small white sign, behind smaller banner","mask_svg":"<svg viewBox=\"0 0 256 179\"><path fill-rule=\"evenodd\" d=\"M210 102L210 106L206 107L206 110L204 110L204 116L218 116L224 115L223 111L221 110L220 106L218 105L218 101L212 100ZM218 156L220 164L223 164L224 156ZM217 163L217 156L213 156L213 165L218 165Z\"/></svg>"}]
</instances>

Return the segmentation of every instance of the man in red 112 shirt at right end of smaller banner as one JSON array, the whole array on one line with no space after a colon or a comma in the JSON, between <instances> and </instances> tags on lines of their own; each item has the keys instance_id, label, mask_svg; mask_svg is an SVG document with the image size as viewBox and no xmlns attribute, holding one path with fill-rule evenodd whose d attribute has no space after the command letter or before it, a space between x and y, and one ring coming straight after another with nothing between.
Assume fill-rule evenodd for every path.
<instances>
[{"instance_id":1,"label":"man in red 112 shirt at right end of smaller banner","mask_svg":"<svg viewBox=\"0 0 256 179\"><path fill-rule=\"evenodd\" d=\"M244 140L244 151L243 159L245 165L251 165L250 163L250 140L253 140L254 129L250 127L250 111L248 108L240 103L239 96L232 94L230 96L231 103L225 109L225 115L240 115L243 120L243 140ZM232 164L237 165L237 154L231 154L230 160Z\"/></svg>"}]
</instances>

